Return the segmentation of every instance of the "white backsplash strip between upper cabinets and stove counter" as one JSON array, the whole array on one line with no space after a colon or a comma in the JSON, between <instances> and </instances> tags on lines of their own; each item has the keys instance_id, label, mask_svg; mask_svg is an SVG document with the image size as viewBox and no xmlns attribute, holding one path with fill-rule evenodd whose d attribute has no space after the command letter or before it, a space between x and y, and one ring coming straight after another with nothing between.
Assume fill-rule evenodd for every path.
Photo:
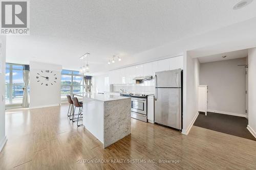
<instances>
[{"instance_id":1,"label":"white backsplash strip between upper cabinets and stove counter","mask_svg":"<svg viewBox=\"0 0 256 170\"><path fill-rule=\"evenodd\" d=\"M155 86L146 86L144 84L113 84L113 92L118 92L120 89L123 89L125 92L155 92Z\"/></svg>"}]
</instances>

